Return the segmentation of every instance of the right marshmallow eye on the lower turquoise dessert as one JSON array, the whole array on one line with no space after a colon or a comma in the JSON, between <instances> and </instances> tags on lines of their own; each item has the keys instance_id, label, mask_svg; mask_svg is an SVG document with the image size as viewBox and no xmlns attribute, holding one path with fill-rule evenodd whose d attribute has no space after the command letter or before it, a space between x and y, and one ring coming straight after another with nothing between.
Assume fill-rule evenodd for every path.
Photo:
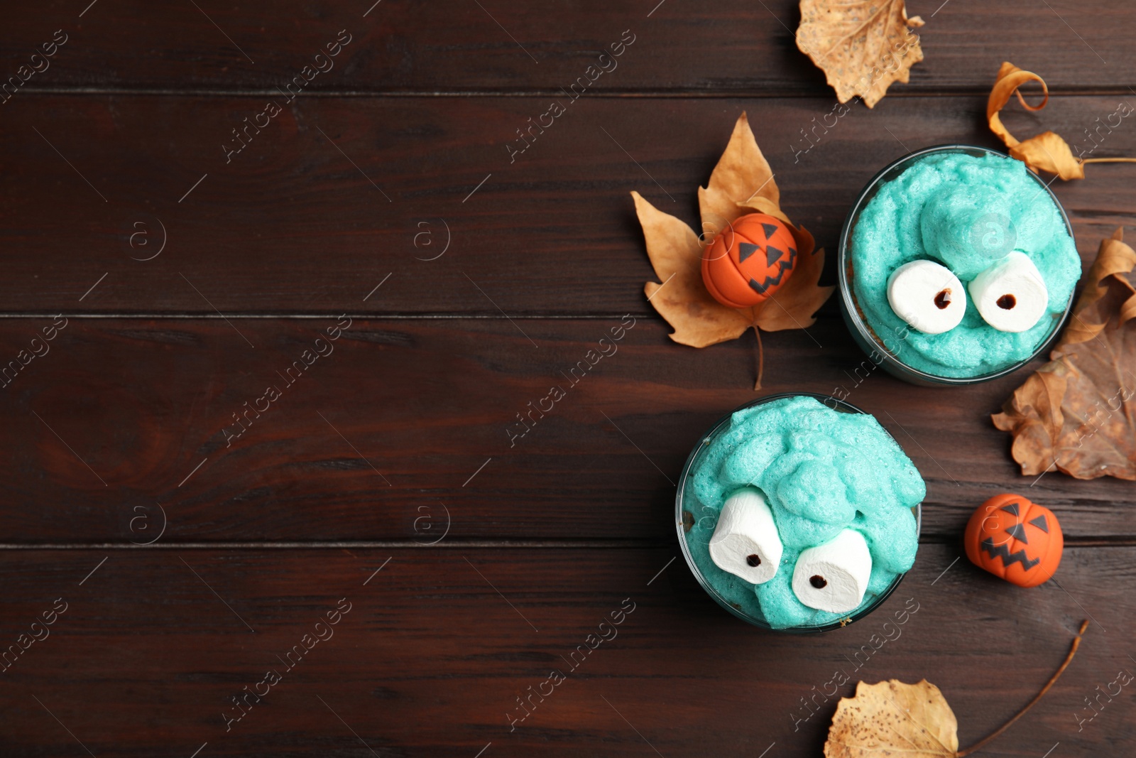
<instances>
[{"instance_id":1,"label":"right marshmallow eye on the lower turquoise dessert","mask_svg":"<svg viewBox=\"0 0 1136 758\"><path fill-rule=\"evenodd\" d=\"M868 543L862 534L846 528L801 551L793 569L793 593L810 608L844 614L863 602L870 575Z\"/></svg>"}]
</instances>

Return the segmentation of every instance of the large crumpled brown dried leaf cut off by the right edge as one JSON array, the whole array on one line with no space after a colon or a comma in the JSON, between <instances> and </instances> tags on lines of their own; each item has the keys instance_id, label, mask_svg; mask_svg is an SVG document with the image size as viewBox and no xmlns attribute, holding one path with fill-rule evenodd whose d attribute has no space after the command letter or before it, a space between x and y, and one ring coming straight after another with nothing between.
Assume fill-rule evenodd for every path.
<instances>
[{"instance_id":1,"label":"large crumpled brown dried leaf cut off by the right edge","mask_svg":"<svg viewBox=\"0 0 1136 758\"><path fill-rule=\"evenodd\" d=\"M1076 478L1136 480L1136 251L1122 231L1101 242L1072 322L1038 368L992 417L1013 435L1026 476L1052 467Z\"/></svg>"}]
</instances>

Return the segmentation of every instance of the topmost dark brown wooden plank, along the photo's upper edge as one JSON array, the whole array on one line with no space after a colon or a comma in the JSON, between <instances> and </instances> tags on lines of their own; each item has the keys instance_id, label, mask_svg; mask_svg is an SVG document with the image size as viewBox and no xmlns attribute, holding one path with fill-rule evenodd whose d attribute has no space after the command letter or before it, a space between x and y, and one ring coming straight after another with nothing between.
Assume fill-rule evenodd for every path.
<instances>
[{"instance_id":1,"label":"topmost dark brown wooden plank, along the photo's upper edge","mask_svg":"<svg viewBox=\"0 0 1136 758\"><path fill-rule=\"evenodd\" d=\"M314 65L346 30L351 42L306 92L556 92L584 76L629 30L634 44L594 90L832 95L793 41L795 0L556 0L524 10L500 0L481 7L385 0L365 17L373 2L194 8L133 0L95 5L82 18L86 2L44 3L34 14L11 14L0 61L5 76L14 76L64 30L67 43L25 86L269 91ZM1136 65L1129 44L1136 24L1127 8L1108 0L1052 7L911 0L908 10L928 22L920 30L927 59L900 92L983 89L1003 59L1041 72L1055 86L1122 92L1126 82L1117 77Z\"/></svg>"}]
</instances>

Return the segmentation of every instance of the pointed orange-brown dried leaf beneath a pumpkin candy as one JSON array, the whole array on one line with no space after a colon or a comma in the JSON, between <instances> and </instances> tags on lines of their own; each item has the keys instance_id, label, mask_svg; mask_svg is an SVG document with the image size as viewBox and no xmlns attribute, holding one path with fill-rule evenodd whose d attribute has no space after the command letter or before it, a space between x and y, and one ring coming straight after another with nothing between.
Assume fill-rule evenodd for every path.
<instances>
[{"instance_id":1,"label":"pointed orange-brown dried leaf beneath a pumpkin candy","mask_svg":"<svg viewBox=\"0 0 1136 758\"><path fill-rule=\"evenodd\" d=\"M704 235L724 231L737 217L753 211L768 213L785 222L797 247L793 275L765 302L752 308L724 306L702 282L702 250L708 243L690 226L662 213L632 192L635 211L643 226L646 252L659 282L648 282L643 291L654 309L675 332L675 342L704 348L741 336L751 326L775 332L804 328L813 314L832 294L832 286L817 286L824 268L825 251L813 249L813 239L797 228L782 213L780 192L772 170L761 155L750 123L743 113L734 125L729 144L710 174L705 188L699 188L699 207ZM760 377L759 377L760 382Z\"/></svg>"}]
</instances>

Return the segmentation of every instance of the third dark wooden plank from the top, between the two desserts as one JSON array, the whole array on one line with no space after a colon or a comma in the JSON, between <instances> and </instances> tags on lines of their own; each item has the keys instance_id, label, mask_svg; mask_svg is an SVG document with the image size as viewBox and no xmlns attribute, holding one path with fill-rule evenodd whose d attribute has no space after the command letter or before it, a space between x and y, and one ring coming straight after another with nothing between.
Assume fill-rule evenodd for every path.
<instances>
[{"instance_id":1,"label":"third dark wooden plank from the top, between the two desserts","mask_svg":"<svg viewBox=\"0 0 1136 758\"><path fill-rule=\"evenodd\" d=\"M0 322L3 356L44 324ZM686 455L755 397L752 336L695 351L653 318L615 345L599 340L619 319L356 319L287 384L333 324L70 319L5 389L3 541L144 542L160 503L164 542L427 542L448 509L460 539L658 543L674 533ZM588 367L588 351L612 348ZM1024 374L907 385L869 370L836 319L768 334L765 350L765 392L840 388L892 431L927 480L930 539L957 539L974 508L1014 490L1072 540L1136 534L1130 483L1018 474L989 414ZM532 409L552 385L566 397L542 418ZM268 386L281 397L258 401Z\"/></svg>"}]
</instances>

